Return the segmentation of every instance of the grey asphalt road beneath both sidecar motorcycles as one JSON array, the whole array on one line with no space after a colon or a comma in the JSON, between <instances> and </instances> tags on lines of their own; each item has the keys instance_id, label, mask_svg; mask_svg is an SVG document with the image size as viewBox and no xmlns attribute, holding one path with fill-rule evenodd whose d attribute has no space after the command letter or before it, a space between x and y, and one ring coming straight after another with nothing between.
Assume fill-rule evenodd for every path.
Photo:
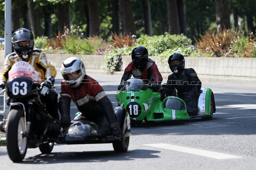
<instances>
[{"instance_id":1,"label":"grey asphalt road beneath both sidecar motorcycles","mask_svg":"<svg viewBox=\"0 0 256 170\"><path fill-rule=\"evenodd\" d=\"M88 74L99 81L116 107L115 94L121 76ZM57 78L61 78L60 74ZM125 153L115 153L111 144L56 144L49 155L41 154L38 148L28 149L24 161L12 163L6 147L1 146L1 168L256 169L255 85L202 83L202 87L212 89L215 97L216 113L210 121L197 118L143 122L140 128L132 128L130 145ZM56 85L56 88L60 92L60 86ZM2 103L3 96L0 99ZM76 111L72 103L71 117Z\"/></svg>"}]
</instances>

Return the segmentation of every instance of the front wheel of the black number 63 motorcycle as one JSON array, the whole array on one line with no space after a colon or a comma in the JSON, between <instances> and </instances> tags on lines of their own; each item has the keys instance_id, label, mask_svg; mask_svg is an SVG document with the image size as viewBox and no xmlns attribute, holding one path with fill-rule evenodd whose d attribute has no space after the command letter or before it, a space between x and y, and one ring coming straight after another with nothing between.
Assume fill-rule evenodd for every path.
<instances>
[{"instance_id":1,"label":"front wheel of the black number 63 motorcycle","mask_svg":"<svg viewBox=\"0 0 256 170\"><path fill-rule=\"evenodd\" d=\"M24 137L25 119L20 108L10 110L7 117L6 146L10 159L19 162L27 152L27 137Z\"/></svg>"}]
</instances>

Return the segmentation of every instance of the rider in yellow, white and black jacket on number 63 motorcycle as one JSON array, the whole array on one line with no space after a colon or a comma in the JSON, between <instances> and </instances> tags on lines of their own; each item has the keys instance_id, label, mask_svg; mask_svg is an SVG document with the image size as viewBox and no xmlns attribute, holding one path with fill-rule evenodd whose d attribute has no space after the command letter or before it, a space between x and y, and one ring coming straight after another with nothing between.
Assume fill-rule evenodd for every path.
<instances>
[{"instance_id":1,"label":"rider in yellow, white and black jacket on number 63 motorcycle","mask_svg":"<svg viewBox=\"0 0 256 170\"><path fill-rule=\"evenodd\" d=\"M56 69L50 64L45 53L42 50L34 48L34 35L28 29L20 28L12 34L13 53L6 56L3 70L0 73L0 91L5 88L8 80L8 72L12 65L18 61L26 61L39 72L39 81L41 81L42 101L46 104L46 110L52 117L59 119L58 115L58 94L52 89ZM0 130L3 131L5 120L0 122Z\"/></svg>"}]
</instances>

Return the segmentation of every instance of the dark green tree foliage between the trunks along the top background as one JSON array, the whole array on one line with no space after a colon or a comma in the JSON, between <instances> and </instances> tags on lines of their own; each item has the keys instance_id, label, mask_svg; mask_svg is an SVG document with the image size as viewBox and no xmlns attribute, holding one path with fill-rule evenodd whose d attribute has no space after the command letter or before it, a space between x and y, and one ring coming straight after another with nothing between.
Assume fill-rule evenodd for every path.
<instances>
[{"instance_id":1,"label":"dark green tree foliage between the trunks along the top background","mask_svg":"<svg viewBox=\"0 0 256 170\"><path fill-rule=\"evenodd\" d=\"M80 30L84 32L84 36L87 37L89 32L88 21L89 18L86 14L87 0L29 0L36 2L36 11L40 16L40 27L42 28L42 36L46 36L46 29L51 24L50 34L52 36L58 33L58 20L56 4L69 3L70 7L70 21L71 25L79 26ZM116 22L114 19L118 16L113 14L115 3L118 0L98 0L99 6L99 19L100 19L100 36L103 39L108 39L111 36L111 31L116 29L116 25L119 26L117 33L124 32L124 26L121 22ZM136 35L139 38L140 35L145 34L145 21L143 15L143 5L141 0L130 0L132 5L132 16L134 17L134 24L136 28ZM247 30L255 33L256 29L256 1L255 0L230 0L230 13L234 13L234 16L242 18L239 20L239 30L244 30L247 34ZM193 0L184 1L186 5L186 25L187 36L193 39L193 36L198 40L200 34L204 34L209 28L216 29L215 19L215 3L214 0ZM16 7L26 5L27 0L12 0L12 10ZM167 20L167 1L166 0L149 0L151 7L151 20L152 20L152 35L161 35L164 32L168 32L168 20ZM87 10L88 11L88 10ZM119 10L120 11L120 10ZM19 27L27 27L28 19L25 18L27 9L20 8L20 25ZM46 16L49 15L49 16ZM51 19L49 23L48 19ZM120 21L121 18L119 18ZM48 22L48 25L47 25ZM238 23L238 22L236 22ZM113 25L114 24L114 25ZM232 23L231 23L232 24ZM234 25L234 24L233 24ZM28 29L31 29L31 23L28 25ZM233 29L234 31L234 29ZM115 32L115 31L114 31ZM0 1L0 36L4 36L4 0Z\"/></svg>"}]
</instances>

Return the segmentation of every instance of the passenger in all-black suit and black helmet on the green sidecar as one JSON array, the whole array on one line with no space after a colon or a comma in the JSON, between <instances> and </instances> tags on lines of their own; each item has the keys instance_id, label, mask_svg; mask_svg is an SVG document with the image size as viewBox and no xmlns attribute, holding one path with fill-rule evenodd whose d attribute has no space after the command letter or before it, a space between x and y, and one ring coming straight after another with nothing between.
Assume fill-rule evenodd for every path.
<instances>
[{"instance_id":1,"label":"passenger in all-black suit and black helmet on the green sidecar","mask_svg":"<svg viewBox=\"0 0 256 170\"><path fill-rule=\"evenodd\" d=\"M168 76L167 94L170 94L173 88L177 89L177 96L186 102L188 115L195 115L197 95L202 84L196 71L193 68L185 68L185 59L180 53L173 53L168 59L168 64L172 74Z\"/></svg>"}]
</instances>

